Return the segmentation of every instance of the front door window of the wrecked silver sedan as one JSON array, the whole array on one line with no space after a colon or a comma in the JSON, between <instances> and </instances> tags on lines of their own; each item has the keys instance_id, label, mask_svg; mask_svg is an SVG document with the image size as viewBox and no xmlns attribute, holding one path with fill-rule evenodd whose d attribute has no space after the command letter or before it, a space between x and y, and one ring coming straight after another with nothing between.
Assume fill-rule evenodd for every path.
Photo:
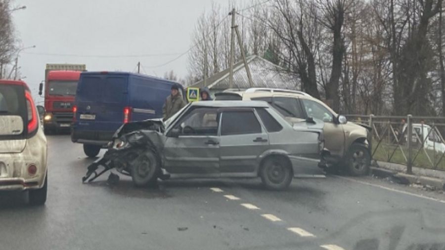
<instances>
[{"instance_id":1,"label":"front door window of the wrecked silver sedan","mask_svg":"<svg viewBox=\"0 0 445 250\"><path fill-rule=\"evenodd\" d=\"M181 135L217 135L218 109L195 108L185 114L175 125Z\"/></svg>"}]
</instances>

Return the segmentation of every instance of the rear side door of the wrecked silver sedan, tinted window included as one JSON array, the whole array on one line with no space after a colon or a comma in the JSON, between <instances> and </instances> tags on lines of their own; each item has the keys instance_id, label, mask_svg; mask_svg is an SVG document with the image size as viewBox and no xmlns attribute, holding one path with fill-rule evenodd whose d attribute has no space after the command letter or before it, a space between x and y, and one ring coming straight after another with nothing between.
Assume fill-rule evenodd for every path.
<instances>
[{"instance_id":1,"label":"rear side door of the wrecked silver sedan, tinted window included","mask_svg":"<svg viewBox=\"0 0 445 250\"><path fill-rule=\"evenodd\" d=\"M220 133L221 175L255 176L259 156L268 147L268 136L254 110L224 110Z\"/></svg>"}]
</instances>

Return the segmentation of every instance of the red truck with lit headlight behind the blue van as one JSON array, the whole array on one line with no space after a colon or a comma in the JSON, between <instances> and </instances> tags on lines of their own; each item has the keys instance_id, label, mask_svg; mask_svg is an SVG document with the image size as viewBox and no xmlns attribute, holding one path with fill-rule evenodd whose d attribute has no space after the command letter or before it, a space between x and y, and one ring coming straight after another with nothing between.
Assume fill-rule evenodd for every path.
<instances>
[{"instance_id":1,"label":"red truck with lit headlight behind the blue van","mask_svg":"<svg viewBox=\"0 0 445 250\"><path fill-rule=\"evenodd\" d=\"M80 73L85 64L46 64L45 69L45 134L69 129ZM39 85L42 95L44 84Z\"/></svg>"}]
</instances>

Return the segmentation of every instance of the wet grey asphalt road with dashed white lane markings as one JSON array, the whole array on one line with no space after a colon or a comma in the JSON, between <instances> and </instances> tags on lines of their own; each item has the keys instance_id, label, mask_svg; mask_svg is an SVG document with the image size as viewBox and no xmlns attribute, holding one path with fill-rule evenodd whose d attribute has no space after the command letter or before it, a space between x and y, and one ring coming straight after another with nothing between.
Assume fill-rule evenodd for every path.
<instances>
[{"instance_id":1,"label":"wet grey asphalt road with dashed white lane markings","mask_svg":"<svg viewBox=\"0 0 445 250\"><path fill-rule=\"evenodd\" d=\"M1 193L1 250L445 250L443 194L346 176L297 178L284 192L260 180L82 184L82 146L48 141L46 205Z\"/></svg>"}]
</instances>

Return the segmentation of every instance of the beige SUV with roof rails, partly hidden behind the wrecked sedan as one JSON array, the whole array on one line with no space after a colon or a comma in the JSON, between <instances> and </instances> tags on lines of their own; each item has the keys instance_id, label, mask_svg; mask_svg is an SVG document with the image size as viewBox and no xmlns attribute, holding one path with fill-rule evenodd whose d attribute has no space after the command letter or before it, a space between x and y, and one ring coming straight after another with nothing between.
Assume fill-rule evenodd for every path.
<instances>
[{"instance_id":1,"label":"beige SUV with roof rails, partly hidden behind the wrecked sedan","mask_svg":"<svg viewBox=\"0 0 445 250\"><path fill-rule=\"evenodd\" d=\"M216 100L266 101L289 119L322 120L325 147L330 152L325 156L327 166L344 167L352 175L364 175L370 169L370 127L348 122L346 117L305 92L274 88L228 89L216 93L215 97Z\"/></svg>"}]
</instances>

